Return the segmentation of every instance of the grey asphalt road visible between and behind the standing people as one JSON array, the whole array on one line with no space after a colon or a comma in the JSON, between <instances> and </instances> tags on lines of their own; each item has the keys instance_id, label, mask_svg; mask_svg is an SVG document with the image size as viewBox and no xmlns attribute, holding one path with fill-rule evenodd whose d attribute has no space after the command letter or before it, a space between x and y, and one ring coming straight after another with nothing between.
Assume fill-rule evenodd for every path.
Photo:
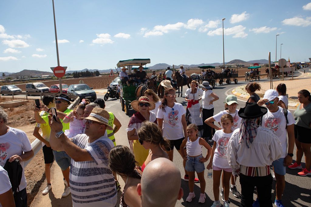
<instances>
[{"instance_id":1,"label":"grey asphalt road visible between and behind the standing people","mask_svg":"<svg viewBox=\"0 0 311 207\"><path fill-rule=\"evenodd\" d=\"M260 80L259 82L266 82L267 79L264 78ZM224 104L223 102L225 101L225 97L228 94L231 94L230 90L232 88L237 87L238 85L243 85L246 84L245 81L240 81L238 84L231 84L231 85L222 85L219 86L217 84L216 88L213 90L219 97L220 100L216 101L214 104L214 114L224 110ZM186 91L187 86L183 88L183 93ZM104 95L98 95L98 98L103 98ZM184 95L183 95L184 97ZM177 97L177 101L186 108L186 101L184 98ZM245 102L242 100L239 100L240 107L245 106ZM239 108L239 107L238 107ZM130 114L127 116L125 113L121 110L121 103L119 100L115 99L110 99L106 101L106 110L111 111L114 113L114 115L120 120L122 127L116 133L116 142L118 145L125 145L129 146L128 144L128 139L127 139L127 133L126 133L126 128L128 126L128 121L130 119L130 116L134 113L134 110L130 111ZM293 112L293 111L292 111ZM296 148L295 148L296 150ZM294 152L295 152L294 150ZM203 156L206 155L206 150L203 150ZM294 160L296 159L295 153L294 153ZM304 166L304 158L302 160L303 166ZM179 153L174 150L174 163L177 165L177 167L180 169L181 172L181 187L183 188L184 191L184 196L181 200L178 200L176 203L176 206L197 206L198 205L198 199L200 196L200 184L196 183L194 186L194 192L196 194L196 197L193 199L191 203L186 202L186 198L189 194L189 188L188 188L188 182L183 180L184 176L184 170L183 170L183 164L182 164L182 158L179 155ZM207 166L207 163L205 163L205 166ZM207 170L206 170L207 171ZM311 203L311 191L310 191L310 186L311 186L311 179L310 177L300 177L297 175L299 172L298 169L286 169L286 175L285 175L285 191L284 191L284 196L282 198L282 202L285 206L310 206ZM205 173L205 179L206 179L206 202L204 206L211 206L214 201L214 195L212 191L212 179L207 178L207 172ZM120 180L119 180L120 181ZM122 189L124 186L123 181L120 182ZM169 185L169 184L168 184ZM163 186L165 188L165 186ZM237 188L240 191L241 187L239 184L239 178L237 178ZM273 182L273 190L272 190L272 199L274 201L275 198L275 181ZM118 196L120 196L120 193L118 193ZM231 200L231 206L238 206L239 204L239 199L235 198L232 193L230 193L229 198ZM221 198L220 198L221 199ZM254 194L254 199L256 199L256 195ZM221 202L222 203L222 202ZM118 206L118 205L117 205Z\"/></svg>"}]
</instances>

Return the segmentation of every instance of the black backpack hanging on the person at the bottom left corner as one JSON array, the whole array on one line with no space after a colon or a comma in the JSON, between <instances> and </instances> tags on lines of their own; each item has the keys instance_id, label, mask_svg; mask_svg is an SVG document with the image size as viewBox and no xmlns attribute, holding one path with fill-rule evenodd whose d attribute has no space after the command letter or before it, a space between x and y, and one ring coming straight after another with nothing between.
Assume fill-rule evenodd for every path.
<instances>
[{"instance_id":1,"label":"black backpack hanging on the person at the bottom left corner","mask_svg":"<svg viewBox=\"0 0 311 207\"><path fill-rule=\"evenodd\" d=\"M9 162L8 159L3 168L7 171L7 174L10 178L15 205L20 206L23 203L23 199L17 194L17 190L20 190L19 185L21 184L21 177L23 175L23 168L21 163L19 160Z\"/></svg>"}]
</instances>

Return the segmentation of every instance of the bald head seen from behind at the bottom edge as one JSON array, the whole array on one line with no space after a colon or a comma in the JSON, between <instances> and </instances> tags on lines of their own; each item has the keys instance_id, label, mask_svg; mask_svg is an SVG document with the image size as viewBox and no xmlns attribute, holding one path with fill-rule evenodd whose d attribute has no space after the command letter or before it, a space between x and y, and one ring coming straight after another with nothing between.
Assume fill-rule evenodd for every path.
<instances>
[{"instance_id":1,"label":"bald head seen from behind at the bottom edge","mask_svg":"<svg viewBox=\"0 0 311 207\"><path fill-rule=\"evenodd\" d=\"M166 158L157 158L150 162L142 174L141 183L137 186L142 197L142 207L175 206L183 197L180 187L180 171Z\"/></svg>"}]
</instances>

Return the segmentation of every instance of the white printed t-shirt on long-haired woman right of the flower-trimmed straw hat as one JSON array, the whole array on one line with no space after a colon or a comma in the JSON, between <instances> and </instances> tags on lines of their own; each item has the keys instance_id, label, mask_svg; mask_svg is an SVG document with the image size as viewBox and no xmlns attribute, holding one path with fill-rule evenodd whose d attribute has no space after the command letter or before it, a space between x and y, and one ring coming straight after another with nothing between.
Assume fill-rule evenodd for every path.
<instances>
[{"instance_id":1,"label":"white printed t-shirt on long-haired woman right of the flower-trimmed straw hat","mask_svg":"<svg viewBox=\"0 0 311 207\"><path fill-rule=\"evenodd\" d=\"M180 103L174 103L174 107L164 107L165 112L162 109L158 110L156 118L163 119L163 137L169 140L177 140L184 137L183 124L181 123L182 115L186 113L183 105Z\"/></svg>"}]
</instances>

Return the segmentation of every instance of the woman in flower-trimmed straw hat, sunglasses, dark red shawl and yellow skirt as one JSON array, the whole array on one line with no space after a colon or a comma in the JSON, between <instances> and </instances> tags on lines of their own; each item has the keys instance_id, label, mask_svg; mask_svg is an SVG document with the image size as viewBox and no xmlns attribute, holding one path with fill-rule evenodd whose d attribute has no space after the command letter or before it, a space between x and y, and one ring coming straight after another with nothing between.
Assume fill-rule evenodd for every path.
<instances>
[{"instance_id":1,"label":"woman in flower-trimmed straw hat, sunglasses, dark red shawl and yellow skirt","mask_svg":"<svg viewBox=\"0 0 311 207\"><path fill-rule=\"evenodd\" d=\"M141 127L142 122L146 120L156 123L156 115L150 111L155 109L156 104L150 102L148 97L142 96L138 100L132 101L131 105L137 112L132 115L126 129L128 131L128 142L135 155L135 160L139 163L139 166L142 166L149 154L149 150L146 150L138 142L137 131Z\"/></svg>"}]
</instances>

